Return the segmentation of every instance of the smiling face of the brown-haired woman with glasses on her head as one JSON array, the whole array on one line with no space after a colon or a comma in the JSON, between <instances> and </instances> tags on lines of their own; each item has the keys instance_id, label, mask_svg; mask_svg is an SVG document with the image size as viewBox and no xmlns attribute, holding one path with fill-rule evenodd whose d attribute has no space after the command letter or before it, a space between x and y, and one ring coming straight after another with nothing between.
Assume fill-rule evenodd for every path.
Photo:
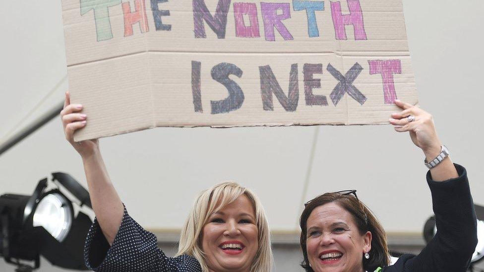
<instances>
[{"instance_id":1,"label":"smiling face of the brown-haired woman with glasses on her head","mask_svg":"<svg viewBox=\"0 0 484 272\"><path fill-rule=\"evenodd\" d=\"M307 218L307 258L315 272L364 272L363 255L371 249L371 232L360 233L353 216L331 202Z\"/></svg>"}]
</instances>

